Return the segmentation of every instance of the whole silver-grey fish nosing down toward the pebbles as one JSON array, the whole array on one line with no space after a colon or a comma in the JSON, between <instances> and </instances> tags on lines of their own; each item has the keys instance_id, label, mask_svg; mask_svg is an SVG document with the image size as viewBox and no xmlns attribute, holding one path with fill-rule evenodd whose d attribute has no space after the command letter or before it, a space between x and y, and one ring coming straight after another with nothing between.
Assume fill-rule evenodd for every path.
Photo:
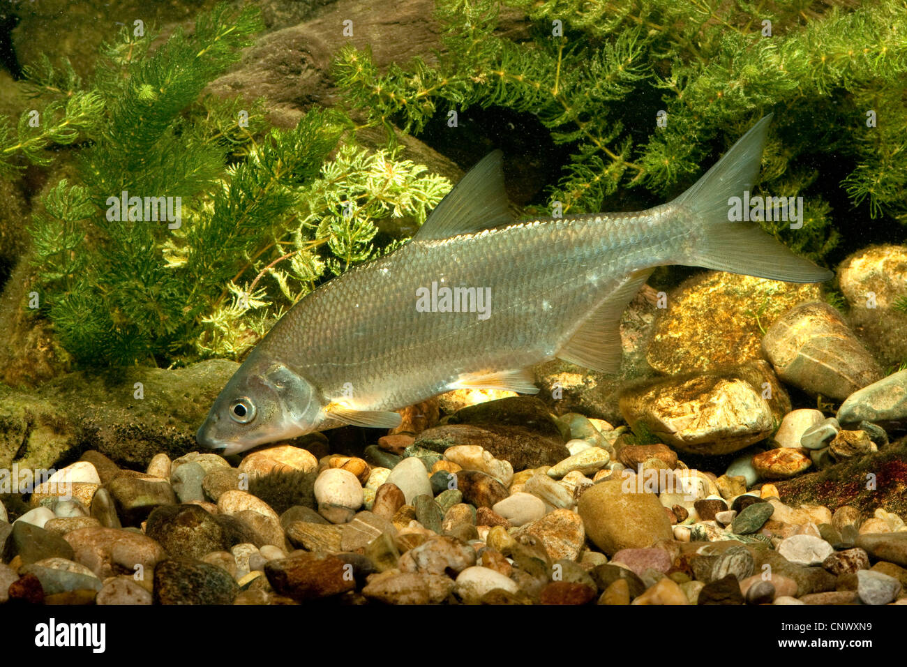
<instances>
[{"instance_id":1,"label":"whole silver-grey fish nosing down toward the pebbles","mask_svg":"<svg viewBox=\"0 0 907 667\"><path fill-rule=\"evenodd\" d=\"M770 121L646 211L514 221L502 152L490 153L405 245L278 320L214 401L199 445L226 456L344 425L394 428L396 410L458 388L535 394L530 368L553 358L615 373L620 317L659 266L830 280L728 214L758 177Z\"/></svg>"}]
</instances>

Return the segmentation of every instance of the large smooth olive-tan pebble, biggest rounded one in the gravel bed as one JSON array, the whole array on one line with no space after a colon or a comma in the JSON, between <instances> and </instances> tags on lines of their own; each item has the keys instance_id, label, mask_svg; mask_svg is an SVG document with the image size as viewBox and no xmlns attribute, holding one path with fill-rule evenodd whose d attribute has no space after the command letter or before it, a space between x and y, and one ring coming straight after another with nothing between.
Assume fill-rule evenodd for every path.
<instances>
[{"instance_id":1,"label":"large smooth olive-tan pebble, biggest rounded one in the gravel bed","mask_svg":"<svg viewBox=\"0 0 907 667\"><path fill-rule=\"evenodd\" d=\"M621 549L644 548L658 540L670 540L673 535L658 496L625 493L621 480L592 486L580 496L577 511L590 540L610 556Z\"/></svg>"}]
</instances>

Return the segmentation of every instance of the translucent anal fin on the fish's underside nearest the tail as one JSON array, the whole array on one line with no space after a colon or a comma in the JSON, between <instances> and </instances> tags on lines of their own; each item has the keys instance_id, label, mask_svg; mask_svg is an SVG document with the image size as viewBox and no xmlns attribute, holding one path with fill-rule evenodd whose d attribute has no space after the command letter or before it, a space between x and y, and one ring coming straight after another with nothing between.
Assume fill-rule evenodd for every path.
<instances>
[{"instance_id":1,"label":"translucent anal fin on the fish's underside nearest the tail","mask_svg":"<svg viewBox=\"0 0 907 667\"><path fill-rule=\"evenodd\" d=\"M558 350L557 357L603 373L617 373L623 358L620 317L639 288L649 280L652 271L642 269L630 273L618 289L583 321L580 329Z\"/></svg>"}]
</instances>

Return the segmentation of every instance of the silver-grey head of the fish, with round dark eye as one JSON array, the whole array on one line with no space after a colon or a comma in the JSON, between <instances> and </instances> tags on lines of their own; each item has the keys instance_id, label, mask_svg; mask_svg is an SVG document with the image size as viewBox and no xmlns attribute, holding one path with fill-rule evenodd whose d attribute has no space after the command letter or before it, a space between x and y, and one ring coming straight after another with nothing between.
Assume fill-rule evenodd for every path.
<instances>
[{"instance_id":1,"label":"silver-grey head of the fish, with round dark eye","mask_svg":"<svg viewBox=\"0 0 907 667\"><path fill-rule=\"evenodd\" d=\"M223 456L288 437L324 421L317 387L286 365L250 355L229 379L195 436Z\"/></svg>"}]
</instances>

